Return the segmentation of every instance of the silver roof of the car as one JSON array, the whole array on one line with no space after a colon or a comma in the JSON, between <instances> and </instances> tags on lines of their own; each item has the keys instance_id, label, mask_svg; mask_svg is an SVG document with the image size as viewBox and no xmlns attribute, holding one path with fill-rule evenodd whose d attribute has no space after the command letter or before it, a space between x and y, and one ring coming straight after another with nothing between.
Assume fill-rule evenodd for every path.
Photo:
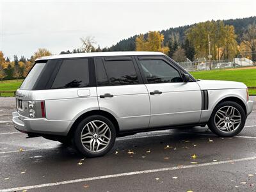
<instances>
[{"instance_id":1,"label":"silver roof of the car","mask_svg":"<svg viewBox=\"0 0 256 192\"><path fill-rule=\"evenodd\" d=\"M151 51L116 51L116 52L83 52L71 54L56 54L37 58L38 60L52 60L61 58L84 58L84 57L99 57L99 56L132 56L132 55L163 55L163 52Z\"/></svg>"}]
</instances>

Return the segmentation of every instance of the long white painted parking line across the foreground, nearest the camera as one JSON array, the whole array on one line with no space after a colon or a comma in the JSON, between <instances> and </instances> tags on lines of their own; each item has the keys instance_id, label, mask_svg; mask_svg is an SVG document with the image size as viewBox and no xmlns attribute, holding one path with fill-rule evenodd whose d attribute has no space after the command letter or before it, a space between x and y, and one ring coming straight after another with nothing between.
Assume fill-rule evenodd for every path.
<instances>
[{"instance_id":1,"label":"long white painted parking line across the foreground, nearest the camera","mask_svg":"<svg viewBox=\"0 0 256 192\"><path fill-rule=\"evenodd\" d=\"M191 164L191 165L184 165L184 166L172 166L172 167L167 167L167 168L142 170L142 171L137 171L137 172L126 172L126 173L117 173L117 174L113 174L113 175L102 175L102 176L98 176L98 177L87 177L87 178L83 178L83 179L64 180L64 181L60 181L60 182L38 184L35 186L24 186L24 187L18 187L18 188L0 189L0 191L8 192L8 191L22 191L22 190L26 190L26 189L47 188L47 187L51 187L51 186L74 184L74 183L86 182L86 181L90 181L90 180L110 179L110 178L116 178L116 177L125 177L125 176L129 176L129 175L140 175L140 174L156 173L156 172L168 172L168 171L172 171L172 170L199 168L199 167L203 167L203 166L212 166L212 165L216 165L216 164L235 163L235 162L241 162L241 161L252 161L255 159L256 159L256 156L246 157L246 158L241 158L241 159L231 159L231 160L227 160L227 161Z\"/></svg>"}]
</instances>

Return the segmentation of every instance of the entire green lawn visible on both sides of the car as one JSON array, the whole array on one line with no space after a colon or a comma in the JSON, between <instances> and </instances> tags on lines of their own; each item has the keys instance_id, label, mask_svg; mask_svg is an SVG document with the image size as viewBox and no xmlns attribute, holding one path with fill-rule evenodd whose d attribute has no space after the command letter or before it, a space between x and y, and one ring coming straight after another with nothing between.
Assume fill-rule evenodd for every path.
<instances>
[{"instance_id":1,"label":"entire green lawn visible on both sides of the car","mask_svg":"<svg viewBox=\"0 0 256 192\"><path fill-rule=\"evenodd\" d=\"M191 72L196 79L239 81L246 86L256 86L256 68L230 70L204 70ZM0 82L1 91L15 91L23 79ZM250 95L256 95L256 90L249 90ZM1 96L13 96L13 93L1 93Z\"/></svg>"}]
</instances>

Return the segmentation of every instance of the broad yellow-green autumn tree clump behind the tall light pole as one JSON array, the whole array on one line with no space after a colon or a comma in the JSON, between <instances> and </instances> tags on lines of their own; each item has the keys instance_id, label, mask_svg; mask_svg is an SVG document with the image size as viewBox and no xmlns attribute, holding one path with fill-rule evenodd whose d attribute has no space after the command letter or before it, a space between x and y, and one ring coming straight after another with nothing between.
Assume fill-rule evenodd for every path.
<instances>
[{"instance_id":1,"label":"broad yellow-green autumn tree clump behind the tall light pole","mask_svg":"<svg viewBox=\"0 0 256 192\"><path fill-rule=\"evenodd\" d=\"M237 42L234 26L225 25L222 21L207 21L195 24L186 31L186 37L195 47L196 57L208 58L211 42L212 60L226 60L237 54Z\"/></svg>"}]
</instances>

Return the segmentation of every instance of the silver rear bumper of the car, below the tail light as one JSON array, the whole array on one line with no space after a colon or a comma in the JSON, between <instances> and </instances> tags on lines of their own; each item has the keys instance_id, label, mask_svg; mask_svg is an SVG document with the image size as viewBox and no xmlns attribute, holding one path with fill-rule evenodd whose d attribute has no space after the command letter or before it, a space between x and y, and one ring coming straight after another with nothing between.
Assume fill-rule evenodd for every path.
<instances>
[{"instance_id":1,"label":"silver rear bumper of the car, below the tail light","mask_svg":"<svg viewBox=\"0 0 256 192\"><path fill-rule=\"evenodd\" d=\"M54 134L67 136L73 121L47 120L47 118L24 118L22 120L18 112L12 113L12 122L20 132L33 132L38 134Z\"/></svg>"}]
</instances>

